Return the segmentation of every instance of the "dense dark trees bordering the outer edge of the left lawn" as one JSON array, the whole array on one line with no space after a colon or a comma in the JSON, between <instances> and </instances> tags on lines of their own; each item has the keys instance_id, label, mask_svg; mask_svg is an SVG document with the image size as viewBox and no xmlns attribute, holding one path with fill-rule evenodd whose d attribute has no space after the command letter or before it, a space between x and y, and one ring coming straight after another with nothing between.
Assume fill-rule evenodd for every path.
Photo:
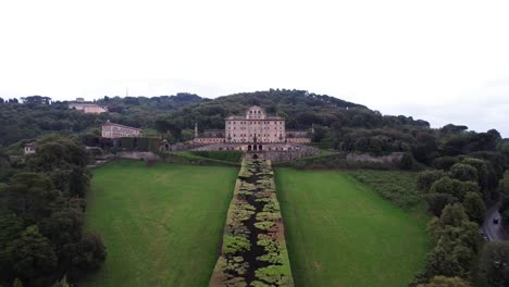
<instances>
[{"instance_id":1,"label":"dense dark trees bordering the outer edge of the left lawn","mask_svg":"<svg viewBox=\"0 0 509 287\"><path fill-rule=\"evenodd\" d=\"M84 226L87 163L85 149L60 136L39 139L17 164L0 153L9 179L0 183L0 285L69 286L105 260L101 237Z\"/></svg>"}]
</instances>

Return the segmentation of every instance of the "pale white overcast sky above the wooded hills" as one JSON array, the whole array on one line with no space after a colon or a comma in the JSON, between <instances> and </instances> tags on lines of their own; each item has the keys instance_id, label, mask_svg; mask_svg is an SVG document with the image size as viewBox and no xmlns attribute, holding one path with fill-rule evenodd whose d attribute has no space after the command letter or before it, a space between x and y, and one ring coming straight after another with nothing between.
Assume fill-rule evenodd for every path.
<instances>
[{"instance_id":1,"label":"pale white overcast sky above the wooded hills","mask_svg":"<svg viewBox=\"0 0 509 287\"><path fill-rule=\"evenodd\" d=\"M0 97L306 89L509 137L509 1L1 1Z\"/></svg>"}]
</instances>

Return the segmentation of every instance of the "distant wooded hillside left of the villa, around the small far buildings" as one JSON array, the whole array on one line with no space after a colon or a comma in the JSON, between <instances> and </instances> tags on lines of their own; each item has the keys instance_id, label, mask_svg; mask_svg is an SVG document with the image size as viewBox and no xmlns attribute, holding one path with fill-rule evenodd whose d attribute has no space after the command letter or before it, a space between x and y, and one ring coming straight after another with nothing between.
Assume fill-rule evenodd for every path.
<instances>
[{"instance_id":1,"label":"distant wooded hillside left of the villa, around the small far buildings","mask_svg":"<svg viewBox=\"0 0 509 287\"><path fill-rule=\"evenodd\" d=\"M158 116L184 105L203 101L190 93L160 97L104 97L96 103L109 109L108 114L84 114L70 110L67 101L50 102L50 98L33 96L4 101L0 98L0 147L20 140L33 140L45 134L62 133L77 136L86 133L98 134L100 124L110 120L134 127L151 128Z\"/></svg>"}]
</instances>

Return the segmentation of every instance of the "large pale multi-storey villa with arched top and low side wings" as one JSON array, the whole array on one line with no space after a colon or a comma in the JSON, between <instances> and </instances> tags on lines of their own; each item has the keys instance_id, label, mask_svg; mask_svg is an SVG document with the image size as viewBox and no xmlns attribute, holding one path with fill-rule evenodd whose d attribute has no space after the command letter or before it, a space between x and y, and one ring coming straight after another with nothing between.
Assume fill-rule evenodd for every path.
<instances>
[{"instance_id":1,"label":"large pale multi-storey villa with arched top and low side wings","mask_svg":"<svg viewBox=\"0 0 509 287\"><path fill-rule=\"evenodd\" d=\"M285 118L268 115L258 105L250 107L245 115L226 117L224 130L198 133L195 125L195 144L306 144L311 139L306 130L286 130Z\"/></svg>"}]
</instances>

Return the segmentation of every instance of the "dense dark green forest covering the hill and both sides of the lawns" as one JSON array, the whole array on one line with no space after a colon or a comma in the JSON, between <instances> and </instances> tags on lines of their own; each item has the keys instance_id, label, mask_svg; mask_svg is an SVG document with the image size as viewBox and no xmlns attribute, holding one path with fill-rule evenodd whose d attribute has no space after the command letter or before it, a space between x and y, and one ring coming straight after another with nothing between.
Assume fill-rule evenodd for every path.
<instances>
[{"instance_id":1,"label":"dense dark green forest covering the hill and both sides of the lawns","mask_svg":"<svg viewBox=\"0 0 509 287\"><path fill-rule=\"evenodd\" d=\"M46 286L63 274L82 276L104 260L100 236L83 230L90 176L84 146L98 141L101 123L110 120L142 128L147 135L185 141L193 137L195 123L200 130L224 128L226 116L243 114L253 104L283 116L288 129L313 127L312 145L318 147L374 155L404 152L400 167L425 170L419 188L435 216L429 227L434 249L413 286L445 286L439 284L449 280L460 282L450 286L467 286L460 285L463 280L479 286L509 284L507 269L497 270L492 260L502 257L499 262L507 262L509 248L483 245L479 234L486 207L500 199L502 222L509 222L509 139L496 129L477 133L454 124L431 128L423 120L384 115L303 90L271 89L213 100L190 93L103 97L95 102L109 112L84 114L70 110L66 101L40 96L0 99L0 254L8 259L2 261L0 276L4 284L17 279ZM18 157L23 145L33 140L38 140L37 153L26 160ZM32 253L36 258L27 262L25 257Z\"/></svg>"}]
</instances>

